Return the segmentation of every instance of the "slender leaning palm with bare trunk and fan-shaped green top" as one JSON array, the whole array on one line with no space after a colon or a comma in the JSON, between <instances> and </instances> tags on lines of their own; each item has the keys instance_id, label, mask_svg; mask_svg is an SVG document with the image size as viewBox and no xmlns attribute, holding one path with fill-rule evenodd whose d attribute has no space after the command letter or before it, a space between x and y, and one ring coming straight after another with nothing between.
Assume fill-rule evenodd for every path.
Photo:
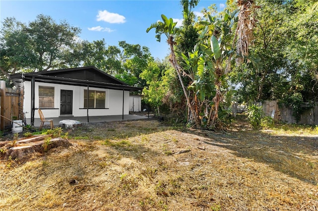
<instances>
[{"instance_id":1,"label":"slender leaning palm with bare trunk and fan-shaped green top","mask_svg":"<svg viewBox=\"0 0 318 211\"><path fill-rule=\"evenodd\" d=\"M174 67L174 69L177 72L183 93L184 93L184 97L187 101L187 106L190 109L191 114L194 117L195 120L195 124L196 126L199 128L200 127L200 119L198 118L198 115L196 114L195 110L193 109L193 107L191 106L190 100L189 100L189 96L188 96L188 92L185 89L185 86L183 84L182 81L182 76L181 76L181 72L183 73L183 69L180 67L180 65L177 62L175 53L174 53L174 45L176 44L174 41L174 38L176 35L181 33L181 29L175 27L177 22L173 22L172 18L167 18L165 15L161 14L161 18L162 18L162 22L158 21L156 23L151 24L151 26L146 30L146 32L148 33L151 29L156 29L156 38L157 41L160 42L161 40L161 35L165 35L167 40L166 42L168 43L169 47L170 47L170 58L169 61L171 63L171 65Z\"/></svg>"}]
</instances>

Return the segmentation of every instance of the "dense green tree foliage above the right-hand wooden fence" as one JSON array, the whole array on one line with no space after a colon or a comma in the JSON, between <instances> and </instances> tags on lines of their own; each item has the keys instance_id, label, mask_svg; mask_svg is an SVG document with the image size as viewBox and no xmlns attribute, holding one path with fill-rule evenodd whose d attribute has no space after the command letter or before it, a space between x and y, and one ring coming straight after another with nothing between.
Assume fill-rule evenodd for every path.
<instances>
[{"instance_id":1,"label":"dense green tree foliage above the right-hand wooden fence","mask_svg":"<svg viewBox=\"0 0 318 211\"><path fill-rule=\"evenodd\" d=\"M239 102L285 102L294 93L303 102L317 99L318 13L299 9L298 1L258 2L254 45L230 77L240 85Z\"/></svg>"}]
</instances>

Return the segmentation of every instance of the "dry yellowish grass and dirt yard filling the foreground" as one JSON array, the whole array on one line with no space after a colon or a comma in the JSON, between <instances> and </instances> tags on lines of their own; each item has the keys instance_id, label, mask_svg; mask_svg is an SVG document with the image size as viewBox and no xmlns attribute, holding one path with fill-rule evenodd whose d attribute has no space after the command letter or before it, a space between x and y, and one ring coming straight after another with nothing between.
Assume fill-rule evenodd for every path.
<instances>
[{"instance_id":1,"label":"dry yellowish grass and dirt yard filling the foreground","mask_svg":"<svg viewBox=\"0 0 318 211\"><path fill-rule=\"evenodd\" d=\"M244 118L225 132L155 119L68 132L70 148L0 160L0 210L318 210L315 133Z\"/></svg>"}]
</instances>

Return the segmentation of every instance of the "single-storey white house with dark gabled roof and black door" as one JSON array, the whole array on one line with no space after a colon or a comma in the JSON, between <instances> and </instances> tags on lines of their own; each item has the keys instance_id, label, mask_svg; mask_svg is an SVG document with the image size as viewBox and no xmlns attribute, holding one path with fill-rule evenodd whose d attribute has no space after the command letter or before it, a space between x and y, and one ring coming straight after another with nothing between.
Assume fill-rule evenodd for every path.
<instances>
[{"instance_id":1,"label":"single-storey white house with dark gabled roof and black door","mask_svg":"<svg viewBox=\"0 0 318 211\"><path fill-rule=\"evenodd\" d=\"M130 91L141 91L94 66L20 73L11 79L24 89L26 118L129 114ZM87 94L88 93L88 94Z\"/></svg>"}]
</instances>

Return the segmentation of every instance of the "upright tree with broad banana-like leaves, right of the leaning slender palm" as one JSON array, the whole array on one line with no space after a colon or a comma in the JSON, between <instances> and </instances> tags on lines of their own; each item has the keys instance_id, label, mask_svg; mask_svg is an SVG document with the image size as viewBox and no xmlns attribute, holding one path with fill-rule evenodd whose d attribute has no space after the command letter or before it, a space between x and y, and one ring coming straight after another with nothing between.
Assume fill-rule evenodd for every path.
<instances>
[{"instance_id":1,"label":"upright tree with broad banana-like leaves, right of the leaning slender palm","mask_svg":"<svg viewBox=\"0 0 318 211\"><path fill-rule=\"evenodd\" d=\"M220 123L219 106L227 91L227 61L234 52L231 45L235 18L235 13L224 13L220 17L208 14L208 20L202 22L206 28L200 35L199 45L188 58L183 56L187 64L185 69L195 78L190 86L195 93L195 109L200 111L201 124L208 128Z\"/></svg>"}]
</instances>

